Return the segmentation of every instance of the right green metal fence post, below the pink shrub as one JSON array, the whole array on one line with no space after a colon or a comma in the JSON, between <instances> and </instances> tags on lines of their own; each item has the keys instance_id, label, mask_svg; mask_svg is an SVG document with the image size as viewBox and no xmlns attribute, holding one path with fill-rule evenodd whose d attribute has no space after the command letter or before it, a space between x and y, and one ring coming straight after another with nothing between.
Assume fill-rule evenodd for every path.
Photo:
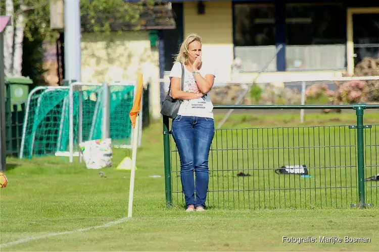
<instances>
[{"instance_id":1,"label":"right green metal fence post, below the pink shrub","mask_svg":"<svg viewBox=\"0 0 379 252\"><path fill-rule=\"evenodd\" d=\"M366 104L354 104L355 114L357 115L357 148L358 148L358 192L359 192L359 207L365 207L364 195L364 138L363 129L363 111Z\"/></svg>"}]
</instances>

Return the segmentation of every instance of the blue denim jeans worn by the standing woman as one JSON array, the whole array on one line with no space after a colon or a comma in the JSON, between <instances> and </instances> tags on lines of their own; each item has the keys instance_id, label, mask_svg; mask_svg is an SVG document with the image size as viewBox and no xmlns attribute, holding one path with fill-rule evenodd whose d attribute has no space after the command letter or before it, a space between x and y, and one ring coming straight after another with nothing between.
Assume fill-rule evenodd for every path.
<instances>
[{"instance_id":1,"label":"blue denim jeans worn by the standing woman","mask_svg":"<svg viewBox=\"0 0 379 252\"><path fill-rule=\"evenodd\" d=\"M208 157L214 136L214 120L208 117L177 115L172 121L171 132L180 157L180 179L185 205L205 208L209 181Z\"/></svg>"}]
</instances>

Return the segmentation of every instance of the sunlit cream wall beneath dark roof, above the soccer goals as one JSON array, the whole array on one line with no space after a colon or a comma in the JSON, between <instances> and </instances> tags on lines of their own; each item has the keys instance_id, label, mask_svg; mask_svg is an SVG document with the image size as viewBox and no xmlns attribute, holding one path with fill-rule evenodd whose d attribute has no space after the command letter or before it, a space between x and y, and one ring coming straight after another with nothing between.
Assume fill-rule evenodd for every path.
<instances>
[{"instance_id":1,"label":"sunlit cream wall beneath dark roof, above the soccer goals","mask_svg":"<svg viewBox=\"0 0 379 252\"><path fill-rule=\"evenodd\" d=\"M151 48L149 32L83 33L81 38L82 82L144 80L159 77L158 50Z\"/></svg>"}]
</instances>

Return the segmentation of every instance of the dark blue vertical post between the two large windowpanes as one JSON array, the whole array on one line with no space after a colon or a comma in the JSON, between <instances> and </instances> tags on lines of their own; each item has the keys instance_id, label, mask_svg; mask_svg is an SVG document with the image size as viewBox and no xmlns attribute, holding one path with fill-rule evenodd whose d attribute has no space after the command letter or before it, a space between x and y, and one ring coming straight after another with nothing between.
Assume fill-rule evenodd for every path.
<instances>
[{"instance_id":1,"label":"dark blue vertical post between the two large windowpanes","mask_svg":"<svg viewBox=\"0 0 379 252\"><path fill-rule=\"evenodd\" d=\"M286 3L284 1L275 1L275 32L276 48L280 45L283 47L276 55L276 71L286 71Z\"/></svg>"}]
</instances>

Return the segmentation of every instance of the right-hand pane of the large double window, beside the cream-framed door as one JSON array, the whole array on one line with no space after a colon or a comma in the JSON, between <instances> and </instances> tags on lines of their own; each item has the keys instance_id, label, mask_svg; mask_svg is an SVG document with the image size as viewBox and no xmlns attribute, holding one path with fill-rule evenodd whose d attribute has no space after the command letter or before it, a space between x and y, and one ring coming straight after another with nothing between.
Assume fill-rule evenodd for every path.
<instances>
[{"instance_id":1,"label":"right-hand pane of the large double window, beside the cream-framed door","mask_svg":"<svg viewBox=\"0 0 379 252\"><path fill-rule=\"evenodd\" d=\"M286 5L287 70L344 69L345 43L342 4Z\"/></svg>"}]
</instances>

